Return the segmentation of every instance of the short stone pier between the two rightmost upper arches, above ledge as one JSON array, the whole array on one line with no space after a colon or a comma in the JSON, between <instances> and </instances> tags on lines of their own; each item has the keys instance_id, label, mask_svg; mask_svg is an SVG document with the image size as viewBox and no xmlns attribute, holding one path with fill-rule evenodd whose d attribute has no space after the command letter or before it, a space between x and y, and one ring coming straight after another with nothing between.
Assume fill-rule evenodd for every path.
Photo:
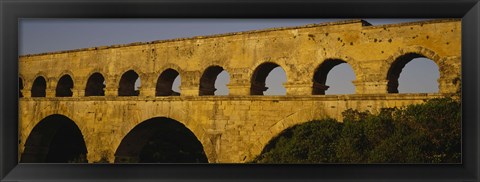
<instances>
[{"instance_id":1,"label":"short stone pier between the two rightmost upper arches, above ledge","mask_svg":"<svg viewBox=\"0 0 480 182\"><path fill-rule=\"evenodd\" d=\"M388 80L381 81L352 81L355 85L355 94L386 94Z\"/></svg>"}]
</instances>

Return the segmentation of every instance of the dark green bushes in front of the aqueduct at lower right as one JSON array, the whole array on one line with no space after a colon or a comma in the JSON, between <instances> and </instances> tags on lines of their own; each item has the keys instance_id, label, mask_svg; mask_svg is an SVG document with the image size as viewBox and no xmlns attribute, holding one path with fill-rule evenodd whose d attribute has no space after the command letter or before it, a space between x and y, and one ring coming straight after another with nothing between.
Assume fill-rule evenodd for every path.
<instances>
[{"instance_id":1,"label":"dark green bushes in front of the aqueduct at lower right","mask_svg":"<svg viewBox=\"0 0 480 182\"><path fill-rule=\"evenodd\" d=\"M346 110L343 122L310 121L283 131L253 163L459 163L461 105L432 99L378 114Z\"/></svg>"}]
</instances>

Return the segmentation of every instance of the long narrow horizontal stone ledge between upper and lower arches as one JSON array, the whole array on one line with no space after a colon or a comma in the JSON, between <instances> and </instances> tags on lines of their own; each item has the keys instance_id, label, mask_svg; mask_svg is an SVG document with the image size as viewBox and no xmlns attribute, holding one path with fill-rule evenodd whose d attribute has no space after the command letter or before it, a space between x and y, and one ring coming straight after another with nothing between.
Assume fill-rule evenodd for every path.
<instances>
[{"instance_id":1,"label":"long narrow horizontal stone ledge between upper and lower arches","mask_svg":"<svg viewBox=\"0 0 480 182\"><path fill-rule=\"evenodd\" d=\"M410 100L410 99L431 99L438 97L451 96L451 94L440 93L405 93L405 94L344 94L344 95L308 95L308 96L91 96L91 97L35 97L20 98L20 101L299 101L299 100Z\"/></svg>"}]
</instances>

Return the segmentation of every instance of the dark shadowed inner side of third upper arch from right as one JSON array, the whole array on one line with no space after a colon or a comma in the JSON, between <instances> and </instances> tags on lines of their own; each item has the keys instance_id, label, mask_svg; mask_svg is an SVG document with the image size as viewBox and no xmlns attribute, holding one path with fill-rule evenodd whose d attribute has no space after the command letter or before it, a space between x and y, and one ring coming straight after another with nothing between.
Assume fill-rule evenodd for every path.
<instances>
[{"instance_id":1,"label":"dark shadowed inner side of third upper arch from right","mask_svg":"<svg viewBox=\"0 0 480 182\"><path fill-rule=\"evenodd\" d=\"M267 76L277 67L280 66L276 63L267 62L262 63L255 69L251 80L250 95L263 95L263 92L268 89L268 87L265 87Z\"/></svg>"}]
</instances>

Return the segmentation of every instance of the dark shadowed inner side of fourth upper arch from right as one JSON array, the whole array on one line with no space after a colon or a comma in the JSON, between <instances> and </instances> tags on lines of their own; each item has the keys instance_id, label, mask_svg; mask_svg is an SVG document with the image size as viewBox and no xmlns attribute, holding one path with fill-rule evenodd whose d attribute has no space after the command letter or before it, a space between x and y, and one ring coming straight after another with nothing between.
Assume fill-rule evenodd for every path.
<instances>
[{"instance_id":1,"label":"dark shadowed inner side of fourth upper arch from right","mask_svg":"<svg viewBox=\"0 0 480 182\"><path fill-rule=\"evenodd\" d=\"M218 75L224 71L220 66L210 66L204 72L200 78L199 95L215 95L215 82Z\"/></svg>"}]
</instances>

